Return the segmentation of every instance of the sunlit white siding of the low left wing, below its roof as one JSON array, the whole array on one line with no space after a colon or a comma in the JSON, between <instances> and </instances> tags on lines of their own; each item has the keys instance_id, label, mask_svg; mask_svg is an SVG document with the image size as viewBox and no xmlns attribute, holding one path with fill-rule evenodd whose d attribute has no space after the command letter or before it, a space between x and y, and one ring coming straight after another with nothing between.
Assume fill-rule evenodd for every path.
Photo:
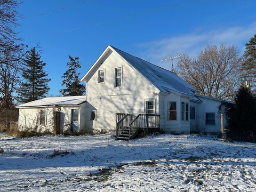
<instances>
[{"instance_id":1,"label":"sunlit white siding of the low left wing, below its roof","mask_svg":"<svg viewBox=\"0 0 256 192\"><path fill-rule=\"evenodd\" d=\"M85 104L85 103L83 103ZM59 110L60 108L60 110ZM60 111L60 131L63 132L68 130L71 125L71 109L78 109L78 127L82 129L85 127L85 118L81 118L81 109L80 106L64 106L64 107L34 107L34 108L20 108L19 109L19 122L18 130L23 131L26 129L35 129L36 122L38 125L37 130L35 131L50 131L53 132L53 112ZM39 125L39 112L41 110L46 110L46 125ZM83 105L83 110L85 110L85 105ZM83 116L85 116L85 111L82 111Z\"/></svg>"}]
</instances>

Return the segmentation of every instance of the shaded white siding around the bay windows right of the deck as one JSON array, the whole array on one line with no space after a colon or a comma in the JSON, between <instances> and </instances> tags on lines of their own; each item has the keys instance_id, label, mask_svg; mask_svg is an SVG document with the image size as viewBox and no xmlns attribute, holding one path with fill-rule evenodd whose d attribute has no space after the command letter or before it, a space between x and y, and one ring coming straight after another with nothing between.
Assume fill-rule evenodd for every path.
<instances>
[{"instance_id":1,"label":"shaded white siding around the bay windows right of the deck","mask_svg":"<svg viewBox=\"0 0 256 192\"><path fill-rule=\"evenodd\" d=\"M168 104L170 101L177 102L177 120L168 119ZM161 130L166 133L189 133L189 119L188 121L181 121L181 101L188 102L189 99L181 97L176 93L160 93L159 94L159 114L161 115Z\"/></svg>"}]
</instances>

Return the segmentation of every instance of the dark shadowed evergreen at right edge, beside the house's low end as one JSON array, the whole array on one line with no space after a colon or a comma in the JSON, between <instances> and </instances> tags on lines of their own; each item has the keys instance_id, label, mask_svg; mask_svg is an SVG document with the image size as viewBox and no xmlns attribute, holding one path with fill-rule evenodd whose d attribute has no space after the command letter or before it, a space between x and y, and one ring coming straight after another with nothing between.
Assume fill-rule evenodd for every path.
<instances>
[{"instance_id":1,"label":"dark shadowed evergreen at right edge, beside the house's low end","mask_svg":"<svg viewBox=\"0 0 256 192\"><path fill-rule=\"evenodd\" d=\"M241 86L235 98L235 108L230 111L230 134L234 139L256 141L256 100L251 90Z\"/></svg>"}]
</instances>

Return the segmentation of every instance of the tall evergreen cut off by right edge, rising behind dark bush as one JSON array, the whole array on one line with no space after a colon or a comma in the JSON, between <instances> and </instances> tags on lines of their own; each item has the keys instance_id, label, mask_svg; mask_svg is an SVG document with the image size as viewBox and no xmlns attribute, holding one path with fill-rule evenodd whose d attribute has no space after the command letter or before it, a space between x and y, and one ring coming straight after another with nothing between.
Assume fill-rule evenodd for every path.
<instances>
[{"instance_id":1,"label":"tall evergreen cut off by right edge, rising behind dark bush","mask_svg":"<svg viewBox=\"0 0 256 192\"><path fill-rule=\"evenodd\" d=\"M243 62L243 76L250 87L256 85L256 34L245 44L244 52L245 61Z\"/></svg>"}]
</instances>

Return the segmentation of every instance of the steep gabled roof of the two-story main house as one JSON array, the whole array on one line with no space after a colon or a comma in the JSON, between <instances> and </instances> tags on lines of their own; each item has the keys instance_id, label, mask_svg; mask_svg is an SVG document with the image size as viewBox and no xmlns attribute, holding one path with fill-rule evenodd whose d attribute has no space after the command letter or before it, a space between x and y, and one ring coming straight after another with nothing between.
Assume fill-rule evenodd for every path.
<instances>
[{"instance_id":1,"label":"steep gabled roof of the two-story main house","mask_svg":"<svg viewBox=\"0 0 256 192\"><path fill-rule=\"evenodd\" d=\"M158 67L148 61L135 57L129 53L121 51L113 46L108 46L107 49L101 54L100 58L107 54L108 50L115 51L125 61L127 61L134 69L144 76L148 81L153 84L159 91L169 93L168 90L194 95L191 91L197 91L193 86L189 85L184 79L172 71L166 70L162 67ZM91 70L101 60L98 59L94 65L87 71L81 81L84 81L90 74Z\"/></svg>"}]
</instances>

